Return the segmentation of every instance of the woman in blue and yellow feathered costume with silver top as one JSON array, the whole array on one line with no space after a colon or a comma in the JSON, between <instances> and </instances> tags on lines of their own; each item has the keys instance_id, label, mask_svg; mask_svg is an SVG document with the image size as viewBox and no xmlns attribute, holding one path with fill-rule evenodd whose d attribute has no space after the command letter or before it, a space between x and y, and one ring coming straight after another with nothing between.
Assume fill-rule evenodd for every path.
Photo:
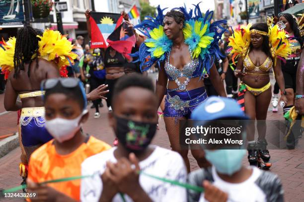
<instances>
[{"instance_id":1,"label":"woman in blue and yellow feathered costume with silver top","mask_svg":"<svg viewBox=\"0 0 304 202\"><path fill-rule=\"evenodd\" d=\"M181 154L190 171L188 150L182 150L179 144L177 121L188 119L192 110L206 100L203 78L207 74L219 95L226 97L214 65L215 57L221 55L218 44L225 31L220 24L226 21L210 23L213 11L207 11L203 16L199 4L189 12L186 7L179 7L163 15L163 10L158 5L155 19L149 17L151 20L135 26L144 30L147 39L139 52L131 55L139 57L142 71L155 62L160 63L156 84L158 105L167 91L163 116L169 141L172 150ZM202 151L191 152L200 167L207 166Z\"/></svg>"}]
</instances>

